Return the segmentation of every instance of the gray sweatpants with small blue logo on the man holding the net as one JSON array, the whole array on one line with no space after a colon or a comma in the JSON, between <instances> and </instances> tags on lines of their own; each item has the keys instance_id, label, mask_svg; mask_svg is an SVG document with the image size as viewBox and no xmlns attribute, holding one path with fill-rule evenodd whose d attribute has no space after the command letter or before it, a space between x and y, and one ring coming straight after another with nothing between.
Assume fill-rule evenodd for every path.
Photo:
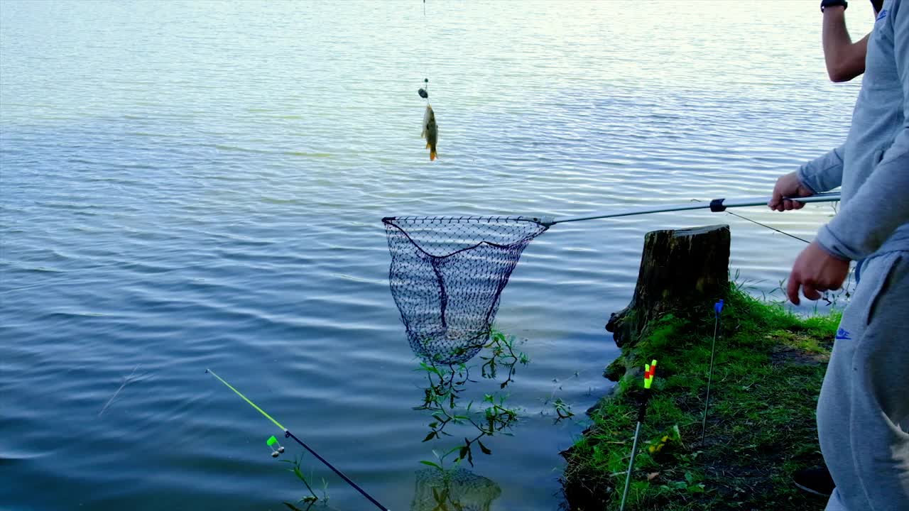
<instances>
[{"instance_id":1,"label":"gray sweatpants with small blue logo on the man holding the net","mask_svg":"<svg viewBox=\"0 0 909 511\"><path fill-rule=\"evenodd\" d=\"M909 511L907 426L909 252L889 252L862 266L817 402L826 511Z\"/></svg>"}]
</instances>

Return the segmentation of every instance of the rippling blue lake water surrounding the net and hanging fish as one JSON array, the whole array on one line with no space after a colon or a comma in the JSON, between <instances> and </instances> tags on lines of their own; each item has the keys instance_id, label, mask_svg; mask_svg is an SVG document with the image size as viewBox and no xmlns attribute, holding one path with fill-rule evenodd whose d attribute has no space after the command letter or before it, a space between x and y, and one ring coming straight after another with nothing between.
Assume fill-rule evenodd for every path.
<instances>
[{"instance_id":1,"label":"rippling blue lake water surrounding the net and hanging fish","mask_svg":"<svg viewBox=\"0 0 909 511\"><path fill-rule=\"evenodd\" d=\"M418 508L419 461L469 430L422 443L380 219L769 194L840 143L858 93L826 80L820 21L816 2L3 0L0 507L304 496L268 454L279 431L211 367L385 506ZM832 209L737 213L811 236ZM490 509L561 502L558 452L611 385L604 324L644 233L719 223L755 293L804 246L691 212L555 225L527 248L497 317L526 339L507 387L524 412L474 456ZM554 398L574 421L554 425ZM333 508L370 508L303 467Z\"/></svg>"}]
</instances>

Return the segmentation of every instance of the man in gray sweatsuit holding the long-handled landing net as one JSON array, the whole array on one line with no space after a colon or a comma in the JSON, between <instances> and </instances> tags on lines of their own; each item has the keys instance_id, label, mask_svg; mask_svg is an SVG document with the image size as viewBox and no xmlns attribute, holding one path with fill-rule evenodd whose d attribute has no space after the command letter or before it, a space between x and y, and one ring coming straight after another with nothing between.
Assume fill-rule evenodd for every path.
<instances>
[{"instance_id":1,"label":"man in gray sweatsuit holding the long-handled landing net","mask_svg":"<svg viewBox=\"0 0 909 511\"><path fill-rule=\"evenodd\" d=\"M862 90L841 145L780 177L786 196L842 186L840 211L798 255L787 294L816 300L857 261L817 405L836 488L827 511L909 509L909 0L886 0L868 40Z\"/></svg>"}]
</instances>

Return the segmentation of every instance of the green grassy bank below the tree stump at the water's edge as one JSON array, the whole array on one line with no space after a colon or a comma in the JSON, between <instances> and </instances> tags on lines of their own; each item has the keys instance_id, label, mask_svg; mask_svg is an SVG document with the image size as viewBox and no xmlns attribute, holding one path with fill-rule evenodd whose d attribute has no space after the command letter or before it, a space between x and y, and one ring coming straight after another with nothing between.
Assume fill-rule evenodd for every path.
<instances>
[{"instance_id":1,"label":"green grassy bank below the tree stump at the water's edge","mask_svg":"<svg viewBox=\"0 0 909 511\"><path fill-rule=\"evenodd\" d=\"M822 463L814 406L839 315L799 318L733 288L702 443L713 305L686 314L660 318L623 349L619 365L640 370L629 371L614 396L592 410L593 425L566 453L564 489L572 508L618 509L640 374L656 358L627 509L822 509L824 501L794 488L791 476Z\"/></svg>"}]
</instances>

